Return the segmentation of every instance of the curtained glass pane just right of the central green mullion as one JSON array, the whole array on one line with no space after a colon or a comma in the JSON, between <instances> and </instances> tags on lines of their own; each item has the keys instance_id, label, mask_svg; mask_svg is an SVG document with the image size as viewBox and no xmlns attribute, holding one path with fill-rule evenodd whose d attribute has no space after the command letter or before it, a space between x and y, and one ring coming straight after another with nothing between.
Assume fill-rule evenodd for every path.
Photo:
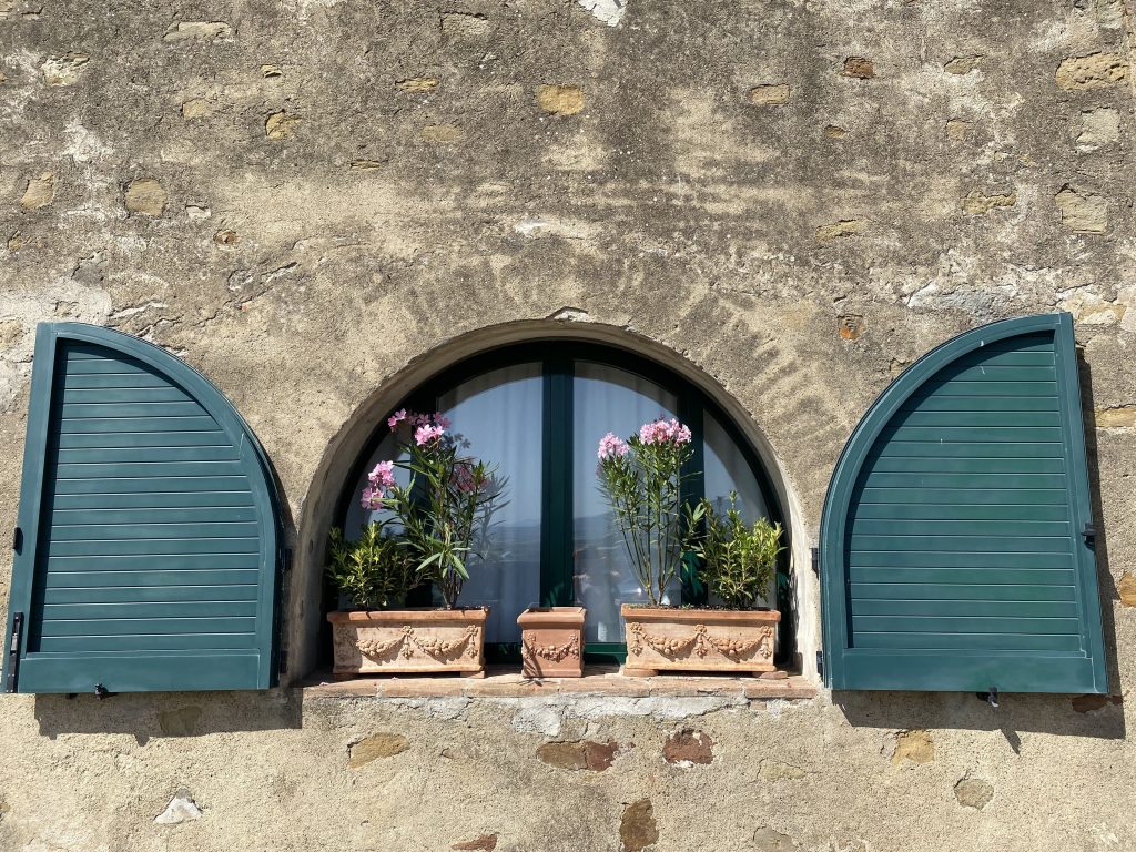
<instances>
[{"instance_id":1,"label":"curtained glass pane just right of the central green mullion","mask_svg":"<svg viewBox=\"0 0 1136 852\"><path fill-rule=\"evenodd\" d=\"M626 370L577 361L574 384L574 531L576 602L587 608L586 642L623 642L619 604L644 603L623 535L600 490L596 446L608 432L626 437L648 420L674 417L678 400ZM676 580L669 601L678 602Z\"/></svg>"}]
</instances>

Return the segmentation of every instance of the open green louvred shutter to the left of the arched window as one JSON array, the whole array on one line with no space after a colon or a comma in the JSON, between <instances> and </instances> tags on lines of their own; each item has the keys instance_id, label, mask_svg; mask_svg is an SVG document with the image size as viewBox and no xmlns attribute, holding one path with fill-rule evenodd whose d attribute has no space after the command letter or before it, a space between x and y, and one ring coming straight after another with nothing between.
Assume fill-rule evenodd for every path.
<instances>
[{"instance_id":1,"label":"open green louvred shutter to the left of the arched window","mask_svg":"<svg viewBox=\"0 0 1136 852\"><path fill-rule=\"evenodd\" d=\"M204 377L98 326L37 329L9 692L274 685L277 499Z\"/></svg>"}]
</instances>

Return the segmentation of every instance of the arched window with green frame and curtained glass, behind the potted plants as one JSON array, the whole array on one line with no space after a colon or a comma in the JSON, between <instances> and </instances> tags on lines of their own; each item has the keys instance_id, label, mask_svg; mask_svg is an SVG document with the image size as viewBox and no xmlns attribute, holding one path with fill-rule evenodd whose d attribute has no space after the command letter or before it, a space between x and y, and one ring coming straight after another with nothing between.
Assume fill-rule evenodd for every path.
<instances>
[{"instance_id":1,"label":"arched window with green frame and curtained glass, behind the potted plants","mask_svg":"<svg viewBox=\"0 0 1136 852\"><path fill-rule=\"evenodd\" d=\"M784 524L757 453L702 391L675 373L621 349L546 341L506 346L469 359L427 382L396 408L442 411L469 452L508 477L508 503L494 516L492 552L473 566L460 601L488 604L486 651L517 652L517 616L529 604L587 609L586 653L621 657L621 603L645 601L627 562L596 476L596 446L608 432L626 436L660 416L677 417L694 436L687 498L725 499L730 491L747 520ZM341 499L339 517L356 537L374 516L359 503L366 474L396 451L378 421ZM788 545L788 535L784 543ZM788 607L787 553L767 602ZM704 603L700 590L676 583L671 603ZM428 591L417 601L428 604ZM334 604L334 600L332 601ZM778 658L792 653L792 619L782 621Z\"/></svg>"}]
</instances>

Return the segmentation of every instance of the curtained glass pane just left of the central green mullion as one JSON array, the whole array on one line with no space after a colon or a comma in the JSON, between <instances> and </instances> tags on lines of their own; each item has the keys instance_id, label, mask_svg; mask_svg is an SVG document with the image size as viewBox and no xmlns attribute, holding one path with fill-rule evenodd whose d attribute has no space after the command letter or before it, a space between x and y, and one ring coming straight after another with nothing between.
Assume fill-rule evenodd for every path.
<instances>
[{"instance_id":1,"label":"curtained glass pane just left of the central green mullion","mask_svg":"<svg viewBox=\"0 0 1136 852\"><path fill-rule=\"evenodd\" d=\"M542 379L540 364L492 370L443 394L438 408L469 452L508 478L484 561L469 565L459 602L488 604L486 642L520 642L517 616L541 602Z\"/></svg>"}]
</instances>

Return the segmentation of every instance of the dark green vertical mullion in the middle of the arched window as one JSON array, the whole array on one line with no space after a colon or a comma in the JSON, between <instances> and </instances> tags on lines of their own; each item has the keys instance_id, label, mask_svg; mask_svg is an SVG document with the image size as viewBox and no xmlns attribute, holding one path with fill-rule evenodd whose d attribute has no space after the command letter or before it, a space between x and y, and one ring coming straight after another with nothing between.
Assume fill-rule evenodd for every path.
<instances>
[{"instance_id":1,"label":"dark green vertical mullion in the middle of the arched window","mask_svg":"<svg viewBox=\"0 0 1136 852\"><path fill-rule=\"evenodd\" d=\"M573 361L544 362L541 603L573 603Z\"/></svg>"}]
</instances>

